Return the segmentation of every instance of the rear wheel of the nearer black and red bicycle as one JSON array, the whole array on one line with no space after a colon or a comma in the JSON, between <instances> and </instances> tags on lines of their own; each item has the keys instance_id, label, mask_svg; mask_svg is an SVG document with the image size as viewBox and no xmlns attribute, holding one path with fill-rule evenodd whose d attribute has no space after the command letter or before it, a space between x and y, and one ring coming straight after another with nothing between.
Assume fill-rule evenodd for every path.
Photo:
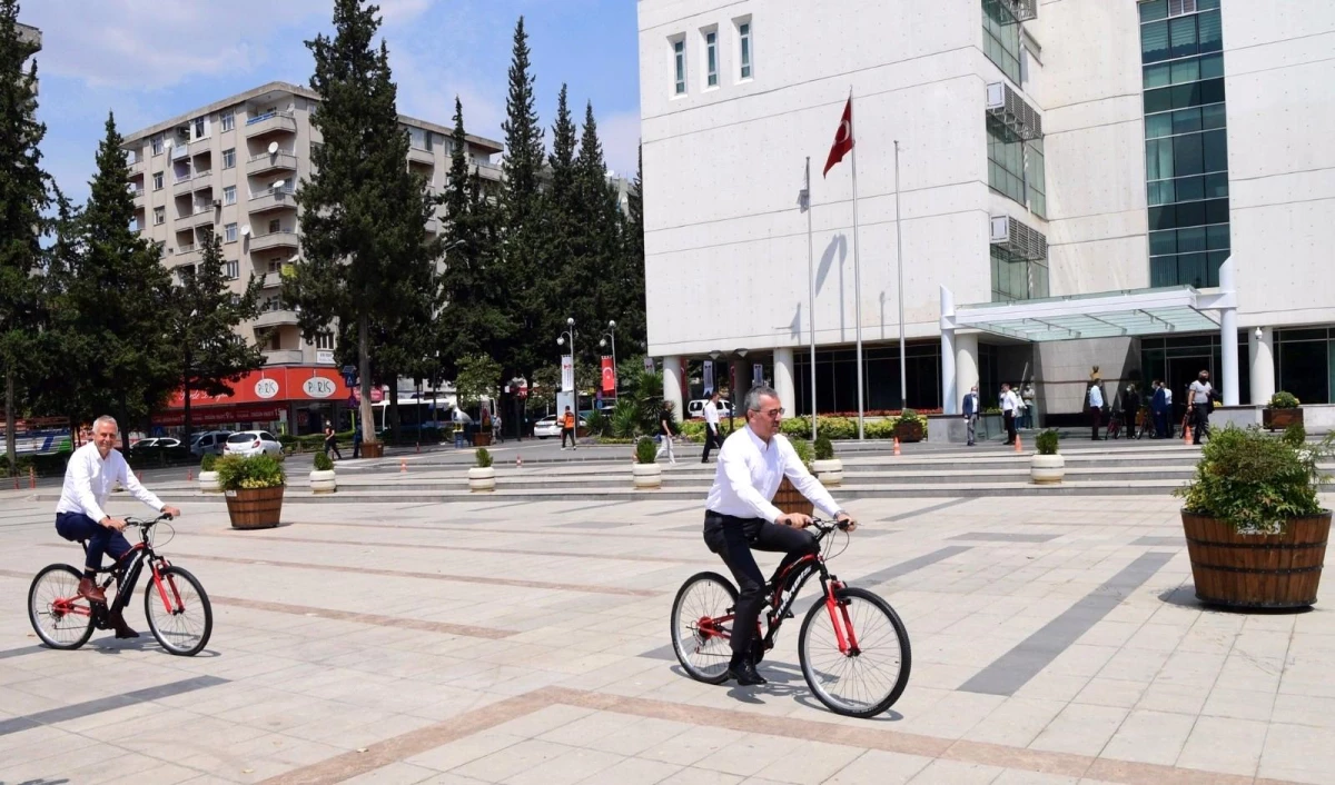
<instances>
[{"instance_id":1,"label":"rear wheel of the nearer black and red bicycle","mask_svg":"<svg viewBox=\"0 0 1335 785\"><path fill-rule=\"evenodd\" d=\"M696 681L722 684L728 680L732 650L732 619L737 589L718 573L697 573L682 583L672 603L672 647L682 669Z\"/></svg>"}]
</instances>

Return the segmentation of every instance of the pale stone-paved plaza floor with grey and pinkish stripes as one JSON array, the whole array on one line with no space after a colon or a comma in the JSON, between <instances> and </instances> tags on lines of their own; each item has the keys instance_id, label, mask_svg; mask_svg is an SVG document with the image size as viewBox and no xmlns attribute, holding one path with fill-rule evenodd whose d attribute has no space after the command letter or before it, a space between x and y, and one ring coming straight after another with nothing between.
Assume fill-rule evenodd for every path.
<instances>
[{"instance_id":1,"label":"pale stone-paved plaza floor with grey and pinkish stripes","mask_svg":"<svg viewBox=\"0 0 1335 785\"><path fill-rule=\"evenodd\" d=\"M159 550L212 597L195 658L138 597L139 639L40 646L29 581L79 547L53 502L0 495L0 782L1335 782L1335 578L1308 613L1204 610L1171 497L849 505L832 569L913 645L898 704L850 720L809 694L798 625L768 686L680 672L673 595L722 570L700 502L300 495L267 531L182 505Z\"/></svg>"}]
</instances>

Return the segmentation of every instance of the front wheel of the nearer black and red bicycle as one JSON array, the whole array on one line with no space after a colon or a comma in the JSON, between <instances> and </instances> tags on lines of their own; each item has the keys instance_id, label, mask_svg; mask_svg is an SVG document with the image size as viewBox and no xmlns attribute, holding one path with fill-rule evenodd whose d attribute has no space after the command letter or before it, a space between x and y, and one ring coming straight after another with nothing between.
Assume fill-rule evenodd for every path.
<instances>
[{"instance_id":1,"label":"front wheel of the nearer black and red bicycle","mask_svg":"<svg viewBox=\"0 0 1335 785\"><path fill-rule=\"evenodd\" d=\"M890 603L865 589L845 586L834 601L833 614L821 597L802 621L802 677L830 712L874 717L900 700L909 682L908 630Z\"/></svg>"}]
</instances>

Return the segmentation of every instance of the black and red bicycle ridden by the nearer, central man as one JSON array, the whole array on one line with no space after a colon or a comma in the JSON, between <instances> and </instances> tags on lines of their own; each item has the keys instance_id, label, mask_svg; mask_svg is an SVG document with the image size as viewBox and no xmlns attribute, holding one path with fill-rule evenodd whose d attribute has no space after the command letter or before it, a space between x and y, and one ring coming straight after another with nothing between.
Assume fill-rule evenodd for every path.
<instances>
[{"instance_id":1,"label":"black and red bicycle ridden by the nearer, central man","mask_svg":"<svg viewBox=\"0 0 1335 785\"><path fill-rule=\"evenodd\" d=\"M830 537L842 527L833 521L812 522L820 553L793 562L765 585L768 626L757 630L752 657L760 662L789 609L812 575L821 579L821 595L806 611L797 638L797 658L812 693L837 714L874 717L889 709L909 682L909 635L890 603L866 589L845 585L830 574ZM846 533L845 533L846 537ZM844 541L845 547L848 541ZM840 550L838 553L844 553ZM728 680L732 625L737 587L718 573L697 573L682 583L672 606L672 643L677 661L692 678L706 684ZM757 621L760 627L760 621Z\"/></svg>"}]
</instances>

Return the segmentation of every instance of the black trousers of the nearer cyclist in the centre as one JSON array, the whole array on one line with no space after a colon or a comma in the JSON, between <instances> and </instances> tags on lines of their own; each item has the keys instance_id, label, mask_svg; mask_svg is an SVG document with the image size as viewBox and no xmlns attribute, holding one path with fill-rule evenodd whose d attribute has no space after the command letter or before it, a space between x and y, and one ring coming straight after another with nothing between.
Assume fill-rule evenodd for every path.
<instances>
[{"instance_id":1,"label":"black trousers of the nearer cyclist in the centre","mask_svg":"<svg viewBox=\"0 0 1335 785\"><path fill-rule=\"evenodd\" d=\"M741 662L756 638L756 623L765 606L765 574L752 550L788 554L774 575L808 554L817 553L816 537L805 529L770 523L764 518L734 518L705 513L705 545L722 557L737 581L737 610L733 615L733 665Z\"/></svg>"}]
</instances>

